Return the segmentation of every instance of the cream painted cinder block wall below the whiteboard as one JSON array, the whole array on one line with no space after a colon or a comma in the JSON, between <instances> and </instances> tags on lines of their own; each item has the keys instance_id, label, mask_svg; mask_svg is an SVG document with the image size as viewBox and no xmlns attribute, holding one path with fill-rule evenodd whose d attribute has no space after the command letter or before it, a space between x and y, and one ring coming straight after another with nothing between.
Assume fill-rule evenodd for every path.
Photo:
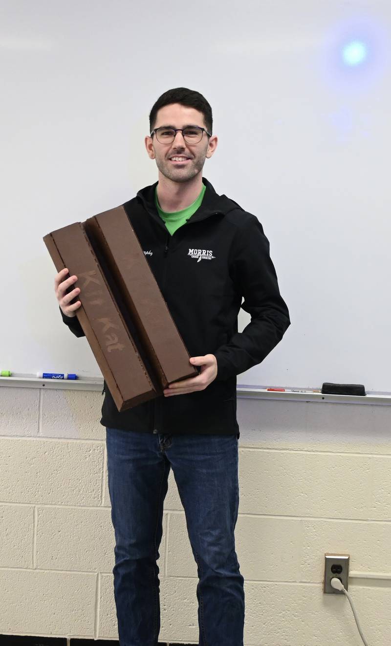
<instances>
[{"instance_id":1,"label":"cream painted cinder block wall below the whiteboard","mask_svg":"<svg viewBox=\"0 0 391 646\"><path fill-rule=\"evenodd\" d=\"M117 638L101 394L0 388L0 632ZM237 554L246 646L361 643L323 555L391 573L391 407L238 400ZM161 641L197 643L197 568L170 474ZM391 581L352 578L371 646L389 646ZM178 612L178 609L180 612Z\"/></svg>"}]
</instances>

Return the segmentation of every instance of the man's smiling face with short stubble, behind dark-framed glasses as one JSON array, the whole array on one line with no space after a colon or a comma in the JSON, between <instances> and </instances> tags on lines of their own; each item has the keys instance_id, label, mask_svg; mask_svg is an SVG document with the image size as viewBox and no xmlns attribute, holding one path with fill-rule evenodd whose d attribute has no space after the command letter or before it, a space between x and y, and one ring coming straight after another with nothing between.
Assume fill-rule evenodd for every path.
<instances>
[{"instance_id":1,"label":"man's smiling face with short stubble, behind dark-framed glasses","mask_svg":"<svg viewBox=\"0 0 391 646\"><path fill-rule=\"evenodd\" d=\"M157 112L155 128L170 126L172 128L185 128L188 125L198 125L205 128L202 112L194 108L172 103L165 105ZM217 137L208 137L206 132L199 143L187 143L182 132L177 132L172 143L160 143L156 134L153 138L145 138L145 147L150 159L156 160L161 175L173 182L188 182L202 171L205 159L212 157L217 146ZM186 161L173 161L173 156L185 156Z\"/></svg>"}]
</instances>

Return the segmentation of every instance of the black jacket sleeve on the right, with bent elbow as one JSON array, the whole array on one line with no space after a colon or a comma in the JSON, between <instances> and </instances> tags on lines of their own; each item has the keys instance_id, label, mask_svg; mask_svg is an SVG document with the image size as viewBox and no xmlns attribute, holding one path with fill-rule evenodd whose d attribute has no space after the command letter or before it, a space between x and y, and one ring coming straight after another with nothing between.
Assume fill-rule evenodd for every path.
<instances>
[{"instance_id":1,"label":"black jacket sleeve on the right, with bent elbow","mask_svg":"<svg viewBox=\"0 0 391 646\"><path fill-rule=\"evenodd\" d=\"M217 380L228 379L261 363L281 341L290 326L288 307L281 298L269 242L254 215L245 224L236 244L233 278L244 297L241 307L251 315L243 332L237 332L214 353Z\"/></svg>"}]
</instances>

